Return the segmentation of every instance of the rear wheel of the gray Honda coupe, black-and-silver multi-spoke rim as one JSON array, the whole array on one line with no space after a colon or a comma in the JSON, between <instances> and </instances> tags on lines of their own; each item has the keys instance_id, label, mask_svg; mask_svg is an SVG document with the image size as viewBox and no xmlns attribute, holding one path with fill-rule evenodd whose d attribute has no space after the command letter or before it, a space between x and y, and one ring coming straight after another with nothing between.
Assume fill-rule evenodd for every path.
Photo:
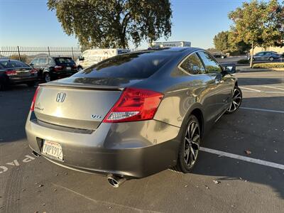
<instances>
[{"instance_id":1,"label":"rear wheel of the gray Honda coupe, black-and-silver multi-spoke rim","mask_svg":"<svg viewBox=\"0 0 284 213\"><path fill-rule=\"evenodd\" d=\"M180 141L180 149L178 151L178 163L173 168L181 173L190 173L194 168L200 148L201 132L200 124L194 115L190 115L187 121L182 140ZM194 153L194 154L192 154Z\"/></svg>"}]
</instances>

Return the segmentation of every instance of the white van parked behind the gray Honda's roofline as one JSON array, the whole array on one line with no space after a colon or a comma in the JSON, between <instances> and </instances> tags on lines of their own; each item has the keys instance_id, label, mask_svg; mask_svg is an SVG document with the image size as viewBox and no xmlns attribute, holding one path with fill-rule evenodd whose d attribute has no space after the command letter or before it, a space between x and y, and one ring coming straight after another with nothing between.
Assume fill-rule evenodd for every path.
<instances>
[{"instance_id":1,"label":"white van parked behind the gray Honda's roofline","mask_svg":"<svg viewBox=\"0 0 284 213\"><path fill-rule=\"evenodd\" d=\"M84 53L77 59L76 65L78 70L83 70L86 67L97 64L102 60L114 57L123 53L129 53L130 50L127 49L94 49L85 50Z\"/></svg>"}]
</instances>

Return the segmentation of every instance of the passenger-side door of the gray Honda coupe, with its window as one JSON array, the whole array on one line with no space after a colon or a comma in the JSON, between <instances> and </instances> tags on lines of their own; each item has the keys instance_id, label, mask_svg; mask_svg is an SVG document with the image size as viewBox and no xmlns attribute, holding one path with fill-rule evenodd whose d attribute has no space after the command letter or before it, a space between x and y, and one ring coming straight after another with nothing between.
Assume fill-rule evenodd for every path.
<instances>
[{"instance_id":1,"label":"passenger-side door of the gray Honda coupe, with its window","mask_svg":"<svg viewBox=\"0 0 284 213\"><path fill-rule=\"evenodd\" d=\"M215 60L209 53L198 52L207 75L211 78L210 82L210 105L212 105L212 116L217 119L220 115L228 109L231 103L231 92L234 88L234 82L231 77L224 75L223 68L217 60Z\"/></svg>"}]
</instances>

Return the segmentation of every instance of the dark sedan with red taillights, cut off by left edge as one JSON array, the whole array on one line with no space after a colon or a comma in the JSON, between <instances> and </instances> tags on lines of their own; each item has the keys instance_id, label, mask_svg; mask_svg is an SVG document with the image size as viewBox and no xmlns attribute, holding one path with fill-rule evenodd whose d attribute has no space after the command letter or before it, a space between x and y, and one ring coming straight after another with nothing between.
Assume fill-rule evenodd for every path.
<instances>
[{"instance_id":1,"label":"dark sedan with red taillights, cut off by left edge","mask_svg":"<svg viewBox=\"0 0 284 213\"><path fill-rule=\"evenodd\" d=\"M33 87L37 80L37 71L26 63L19 60L0 60L0 90L11 84L28 84L28 87Z\"/></svg>"}]
</instances>

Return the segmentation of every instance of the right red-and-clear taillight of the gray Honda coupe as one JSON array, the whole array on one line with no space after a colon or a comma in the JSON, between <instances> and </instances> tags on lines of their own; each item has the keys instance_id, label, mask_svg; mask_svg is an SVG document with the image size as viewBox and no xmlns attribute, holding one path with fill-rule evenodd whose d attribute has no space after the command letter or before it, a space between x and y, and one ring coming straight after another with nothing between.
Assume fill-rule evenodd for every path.
<instances>
[{"instance_id":1,"label":"right red-and-clear taillight of the gray Honda coupe","mask_svg":"<svg viewBox=\"0 0 284 213\"><path fill-rule=\"evenodd\" d=\"M119 123L153 119L162 99L163 94L160 92L126 88L103 122Z\"/></svg>"}]
</instances>

